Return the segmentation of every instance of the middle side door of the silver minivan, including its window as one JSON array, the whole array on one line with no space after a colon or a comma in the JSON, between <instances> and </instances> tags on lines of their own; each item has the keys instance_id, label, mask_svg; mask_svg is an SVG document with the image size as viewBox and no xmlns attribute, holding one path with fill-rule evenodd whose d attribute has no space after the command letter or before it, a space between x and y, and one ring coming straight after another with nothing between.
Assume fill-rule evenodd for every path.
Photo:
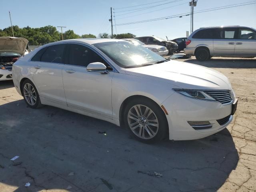
<instances>
[{"instance_id":1,"label":"middle side door of the silver minivan, including its window","mask_svg":"<svg viewBox=\"0 0 256 192\"><path fill-rule=\"evenodd\" d=\"M214 29L214 55L234 55L237 34L238 28Z\"/></svg>"}]
</instances>

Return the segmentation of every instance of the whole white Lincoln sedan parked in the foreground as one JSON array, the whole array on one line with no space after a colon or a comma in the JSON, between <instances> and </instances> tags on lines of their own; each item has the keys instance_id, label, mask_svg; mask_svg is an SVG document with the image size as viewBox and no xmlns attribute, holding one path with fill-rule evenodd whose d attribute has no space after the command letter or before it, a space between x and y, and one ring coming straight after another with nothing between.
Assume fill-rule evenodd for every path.
<instances>
[{"instance_id":1,"label":"whole white Lincoln sedan parked in the foreground","mask_svg":"<svg viewBox=\"0 0 256 192\"><path fill-rule=\"evenodd\" d=\"M237 105L223 74L116 39L41 46L15 62L13 81L31 108L106 120L144 142L212 135L230 124Z\"/></svg>"}]
</instances>

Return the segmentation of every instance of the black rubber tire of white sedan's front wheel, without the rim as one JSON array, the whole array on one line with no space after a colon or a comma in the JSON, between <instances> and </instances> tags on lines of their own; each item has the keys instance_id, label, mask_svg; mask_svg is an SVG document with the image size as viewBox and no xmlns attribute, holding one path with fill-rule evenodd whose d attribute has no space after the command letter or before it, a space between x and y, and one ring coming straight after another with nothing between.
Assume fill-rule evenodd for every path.
<instances>
[{"instance_id":1,"label":"black rubber tire of white sedan's front wheel, without the rim","mask_svg":"<svg viewBox=\"0 0 256 192\"><path fill-rule=\"evenodd\" d=\"M159 122L159 127L158 127L158 132L156 134L156 136L154 136L151 139L142 139L139 138L138 136L136 136L132 130L130 129L129 125L128 125L128 112L130 110L130 108L132 108L133 106L140 104L140 105L144 105L149 107L151 110L153 110L153 112L156 114L156 117L158 118L158 122ZM126 127L126 129L129 130L130 134L136 138L136 140L139 140L141 142L145 142L145 143L152 143L152 142L156 142L159 140L163 140L164 138L167 138L167 128L168 128L168 124L166 121L166 116L164 114L164 112L162 111L162 109L160 108L160 106L158 106L158 104L156 104L155 102L149 100L149 99L144 99L144 98L138 98L138 99L134 99L131 102L129 102L125 109L124 109L124 126Z\"/></svg>"}]
</instances>

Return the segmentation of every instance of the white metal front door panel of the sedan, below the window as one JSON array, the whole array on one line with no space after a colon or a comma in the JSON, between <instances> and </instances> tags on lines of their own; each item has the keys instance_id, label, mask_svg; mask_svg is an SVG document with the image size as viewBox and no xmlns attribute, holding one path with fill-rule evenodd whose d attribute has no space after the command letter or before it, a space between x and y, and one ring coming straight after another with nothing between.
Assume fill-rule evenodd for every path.
<instances>
[{"instance_id":1,"label":"white metal front door panel of the sedan, below the window","mask_svg":"<svg viewBox=\"0 0 256 192\"><path fill-rule=\"evenodd\" d=\"M113 72L101 74L88 72L86 67L66 65L62 74L66 102L69 107L112 118Z\"/></svg>"}]
</instances>

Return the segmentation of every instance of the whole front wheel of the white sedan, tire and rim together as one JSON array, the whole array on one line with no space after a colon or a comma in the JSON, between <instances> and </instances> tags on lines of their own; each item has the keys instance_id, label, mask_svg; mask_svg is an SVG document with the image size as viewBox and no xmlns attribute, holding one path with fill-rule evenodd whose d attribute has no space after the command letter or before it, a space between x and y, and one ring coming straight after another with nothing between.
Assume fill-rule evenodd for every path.
<instances>
[{"instance_id":1,"label":"whole front wheel of the white sedan, tire and rim together","mask_svg":"<svg viewBox=\"0 0 256 192\"><path fill-rule=\"evenodd\" d=\"M168 133L162 109L144 98L137 98L126 105L124 124L134 138L146 143L162 140Z\"/></svg>"}]
</instances>

